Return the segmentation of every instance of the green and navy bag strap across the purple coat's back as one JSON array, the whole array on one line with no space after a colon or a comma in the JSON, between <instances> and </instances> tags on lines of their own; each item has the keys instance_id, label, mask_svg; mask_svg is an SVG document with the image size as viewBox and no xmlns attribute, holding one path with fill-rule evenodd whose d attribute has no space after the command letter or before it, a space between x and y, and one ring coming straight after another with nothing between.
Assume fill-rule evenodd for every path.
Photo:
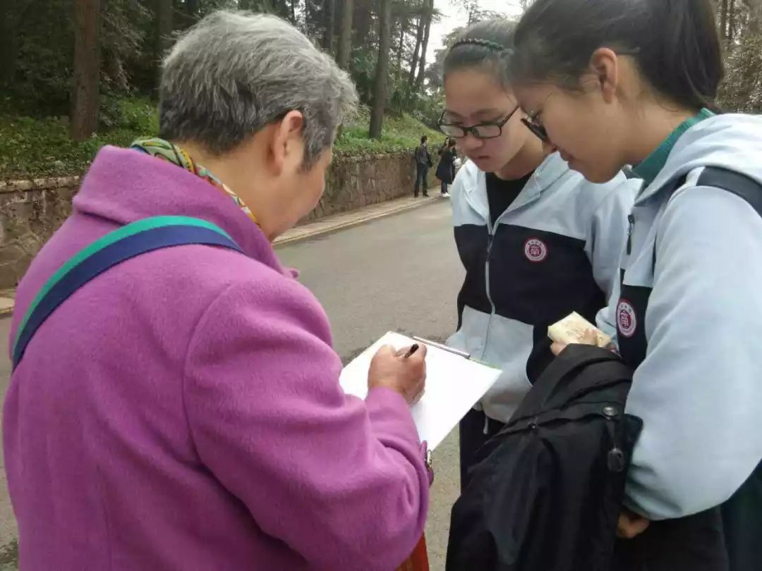
<instances>
[{"instance_id":1,"label":"green and navy bag strap across the purple coat's back","mask_svg":"<svg viewBox=\"0 0 762 571\"><path fill-rule=\"evenodd\" d=\"M241 247L222 228L187 216L142 219L80 250L48 279L24 314L11 352L13 369L18 367L34 333L50 314L91 279L140 254L189 244L225 247L243 254Z\"/></svg>"}]
</instances>

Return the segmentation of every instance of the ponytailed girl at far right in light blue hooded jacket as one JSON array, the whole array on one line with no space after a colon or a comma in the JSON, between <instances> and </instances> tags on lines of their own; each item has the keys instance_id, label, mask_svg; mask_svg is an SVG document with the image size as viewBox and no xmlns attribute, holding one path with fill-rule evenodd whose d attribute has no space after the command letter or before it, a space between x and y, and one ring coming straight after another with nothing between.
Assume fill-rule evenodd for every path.
<instances>
[{"instance_id":1,"label":"ponytailed girl at far right in light blue hooded jacket","mask_svg":"<svg viewBox=\"0 0 762 571\"><path fill-rule=\"evenodd\" d=\"M712 2L537 0L510 67L571 167L645 180L608 314L644 422L626 509L651 523L617 569L762 569L762 118L712 113Z\"/></svg>"}]
</instances>

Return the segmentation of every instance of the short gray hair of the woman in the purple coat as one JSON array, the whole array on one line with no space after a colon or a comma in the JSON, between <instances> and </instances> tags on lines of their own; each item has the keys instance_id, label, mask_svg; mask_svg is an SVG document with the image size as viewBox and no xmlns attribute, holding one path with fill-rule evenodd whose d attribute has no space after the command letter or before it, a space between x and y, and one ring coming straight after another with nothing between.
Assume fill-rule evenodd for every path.
<instances>
[{"instance_id":1,"label":"short gray hair of the woman in the purple coat","mask_svg":"<svg viewBox=\"0 0 762 571\"><path fill-rule=\"evenodd\" d=\"M159 98L162 138L216 155L299 110L306 167L357 104L349 75L303 33L244 11L216 11L179 38L162 64Z\"/></svg>"}]
</instances>

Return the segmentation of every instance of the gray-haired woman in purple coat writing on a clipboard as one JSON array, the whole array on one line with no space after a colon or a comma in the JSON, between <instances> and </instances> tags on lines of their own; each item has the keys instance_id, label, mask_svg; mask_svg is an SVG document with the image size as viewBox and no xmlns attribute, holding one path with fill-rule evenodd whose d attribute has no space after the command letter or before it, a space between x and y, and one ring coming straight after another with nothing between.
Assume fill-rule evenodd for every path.
<instances>
[{"instance_id":1,"label":"gray-haired woman in purple coat writing on a clipboard","mask_svg":"<svg viewBox=\"0 0 762 571\"><path fill-rule=\"evenodd\" d=\"M425 350L382 349L344 395L271 246L322 194L351 81L289 24L217 12L160 97L162 139L98 154L18 289L21 568L394 569L427 509Z\"/></svg>"}]
</instances>

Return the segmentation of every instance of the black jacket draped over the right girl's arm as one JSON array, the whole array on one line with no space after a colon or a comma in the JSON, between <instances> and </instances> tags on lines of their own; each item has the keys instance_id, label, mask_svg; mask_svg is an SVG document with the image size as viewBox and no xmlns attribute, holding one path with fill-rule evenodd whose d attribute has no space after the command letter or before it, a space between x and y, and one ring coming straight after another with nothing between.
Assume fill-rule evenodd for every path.
<instances>
[{"instance_id":1,"label":"black jacket draped over the right girl's arm","mask_svg":"<svg viewBox=\"0 0 762 571\"><path fill-rule=\"evenodd\" d=\"M571 345L479 451L453 507L447 571L608 571L642 421L632 370Z\"/></svg>"}]
</instances>

